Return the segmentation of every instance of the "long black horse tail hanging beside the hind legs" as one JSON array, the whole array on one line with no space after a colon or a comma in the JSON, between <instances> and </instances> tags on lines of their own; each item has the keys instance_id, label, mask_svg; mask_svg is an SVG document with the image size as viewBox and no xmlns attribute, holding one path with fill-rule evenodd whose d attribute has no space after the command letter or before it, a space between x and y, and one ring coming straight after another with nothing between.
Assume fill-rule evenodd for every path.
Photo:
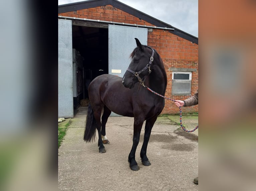
<instances>
[{"instance_id":1,"label":"long black horse tail hanging beside the hind legs","mask_svg":"<svg viewBox=\"0 0 256 191\"><path fill-rule=\"evenodd\" d=\"M95 140L95 135L96 135L96 119L94 117L92 106L89 103L88 113L86 117L84 140L86 142L91 142Z\"/></svg>"}]
</instances>

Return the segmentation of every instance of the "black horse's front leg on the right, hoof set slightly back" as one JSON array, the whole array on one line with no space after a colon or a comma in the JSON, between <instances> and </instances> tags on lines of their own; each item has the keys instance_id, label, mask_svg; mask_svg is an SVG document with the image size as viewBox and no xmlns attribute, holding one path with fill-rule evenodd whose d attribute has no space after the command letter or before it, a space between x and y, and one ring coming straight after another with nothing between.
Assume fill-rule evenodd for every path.
<instances>
[{"instance_id":1,"label":"black horse's front leg on the right, hoof set slightly back","mask_svg":"<svg viewBox=\"0 0 256 191\"><path fill-rule=\"evenodd\" d=\"M157 116L147 119L146 124L145 124L144 141L143 141L141 151L140 151L141 162L145 166L151 165L151 163L149 162L148 157L147 157L147 146L148 146L148 141L150 138L151 130L152 130L152 127L153 127L156 119L157 119Z\"/></svg>"}]
</instances>

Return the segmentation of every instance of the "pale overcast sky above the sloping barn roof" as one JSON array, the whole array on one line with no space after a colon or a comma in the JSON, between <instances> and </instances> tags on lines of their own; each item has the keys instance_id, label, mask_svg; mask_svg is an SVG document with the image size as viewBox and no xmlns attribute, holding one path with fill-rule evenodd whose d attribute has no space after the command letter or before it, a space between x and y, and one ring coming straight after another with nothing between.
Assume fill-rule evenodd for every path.
<instances>
[{"instance_id":1,"label":"pale overcast sky above the sloping barn roof","mask_svg":"<svg viewBox=\"0 0 256 191\"><path fill-rule=\"evenodd\" d=\"M58 0L58 4L83 0ZM147 15L198 37L198 0L119 0Z\"/></svg>"}]
</instances>

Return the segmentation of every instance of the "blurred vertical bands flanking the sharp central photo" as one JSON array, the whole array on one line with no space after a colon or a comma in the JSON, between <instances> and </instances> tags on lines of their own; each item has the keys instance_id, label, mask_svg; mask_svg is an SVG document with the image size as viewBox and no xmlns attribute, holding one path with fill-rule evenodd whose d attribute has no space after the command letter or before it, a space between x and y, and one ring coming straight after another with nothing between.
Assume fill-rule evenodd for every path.
<instances>
[{"instance_id":1,"label":"blurred vertical bands flanking the sharp central photo","mask_svg":"<svg viewBox=\"0 0 256 191\"><path fill-rule=\"evenodd\" d=\"M255 190L256 2L198 5L199 190ZM0 7L0 190L57 190L54 8Z\"/></svg>"}]
</instances>

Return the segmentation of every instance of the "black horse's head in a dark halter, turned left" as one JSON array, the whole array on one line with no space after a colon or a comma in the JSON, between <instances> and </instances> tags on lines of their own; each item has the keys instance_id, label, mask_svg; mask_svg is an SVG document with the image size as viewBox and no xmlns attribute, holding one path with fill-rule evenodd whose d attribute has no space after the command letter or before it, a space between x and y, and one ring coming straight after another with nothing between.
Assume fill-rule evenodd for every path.
<instances>
[{"instance_id":1,"label":"black horse's head in a dark halter, turned left","mask_svg":"<svg viewBox=\"0 0 256 191\"><path fill-rule=\"evenodd\" d=\"M123 85L125 88L133 88L137 82L142 83L144 77L151 73L150 67L154 57L154 50L146 45L141 45L135 38L137 47L130 55L132 59L127 71L123 76Z\"/></svg>"}]
</instances>

